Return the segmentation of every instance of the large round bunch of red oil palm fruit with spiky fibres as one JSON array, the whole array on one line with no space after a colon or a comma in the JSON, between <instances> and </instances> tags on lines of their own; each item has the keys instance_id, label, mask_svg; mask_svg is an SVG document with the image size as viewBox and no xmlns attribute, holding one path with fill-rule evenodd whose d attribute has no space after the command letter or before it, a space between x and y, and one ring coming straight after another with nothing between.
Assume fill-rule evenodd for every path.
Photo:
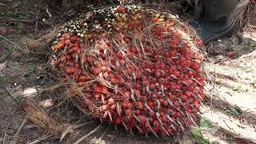
<instances>
[{"instance_id":1,"label":"large round bunch of red oil palm fruit with spiky fibres","mask_svg":"<svg viewBox=\"0 0 256 144\"><path fill-rule=\"evenodd\" d=\"M170 135L204 98L202 41L171 14L115 6L70 21L51 46L70 98L92 118Z\"/></svg>"}]
</instances>

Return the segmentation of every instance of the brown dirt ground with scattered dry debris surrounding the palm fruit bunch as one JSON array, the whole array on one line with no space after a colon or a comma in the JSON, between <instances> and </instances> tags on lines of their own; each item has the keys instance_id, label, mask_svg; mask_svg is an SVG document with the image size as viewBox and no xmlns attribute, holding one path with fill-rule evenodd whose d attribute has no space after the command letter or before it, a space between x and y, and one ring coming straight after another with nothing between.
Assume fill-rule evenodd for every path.
<instances>
[{"instance_id":1,"label":"brown dirt ground with scattered dry debris surrounding the palm fruit bunch","mask_svg":"<svg viewBox=\"0 0 256 144\"><path fill-rule=\"evenodd\" d=\"M73 143L98 126L101 129L81 143L256 143L256 33L253 28L206 46L209 54L204 63L206 100L202 102L198 126L174 138L155 138L92 122L72 106L72 102L59 102L54 90L40 91L54 83L54 76L45 71L50 48L30 50L22 40L40 38L76 14L72 10L58 14L50 6L30 0L0 2L0 143ZM251 14L256 18L255 8ZM256 26L254 20L251 26ZM53 112L52 118L78 128L62 142L50 137L27 120L17 104L21 96L37 100L46 112Z\"/></svg>"}]
</instances>

